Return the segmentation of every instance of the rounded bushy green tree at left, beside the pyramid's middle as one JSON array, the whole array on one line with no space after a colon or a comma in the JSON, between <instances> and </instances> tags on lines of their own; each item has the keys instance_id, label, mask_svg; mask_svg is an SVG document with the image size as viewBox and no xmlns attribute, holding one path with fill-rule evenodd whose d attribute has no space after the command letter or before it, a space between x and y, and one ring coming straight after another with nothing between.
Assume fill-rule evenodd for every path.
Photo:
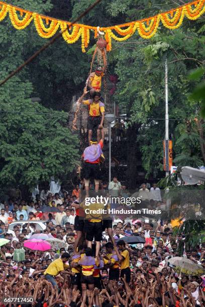
<instances>
[{"instance_id":1,"label":"rounded bushy green tree at left, beside the pyramid's middle","mask_svg":"<svg viewBox=\"0 0 205 307\"><path fill-rule=\"evenodd\" d=\"M15 77L0 88L1 187L32 189L51 176L66 177L75 167L77 138L67 128L67 113L32 102L30 82Z\"/></svg>"}]
</instances>

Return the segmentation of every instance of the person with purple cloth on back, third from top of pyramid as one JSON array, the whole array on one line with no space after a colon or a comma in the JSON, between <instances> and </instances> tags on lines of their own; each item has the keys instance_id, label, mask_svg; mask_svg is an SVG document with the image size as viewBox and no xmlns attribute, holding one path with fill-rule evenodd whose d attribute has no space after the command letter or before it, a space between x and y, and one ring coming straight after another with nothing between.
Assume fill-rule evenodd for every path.
<instances>
[{"instance_id":1,"label":"person with purple cloth on back, third from top of pyramid","mask_svg":"<svg viewBox=\"0 0 205 307\"><path fill-rule=\"evenodd\" d=\"M104 162L105 158L102 154L102 147L104 144L104 130L102 129L102 138L97 143L95 139L91 141L91 145L86 147L82 158L84 160L84 183L85 183L85 197L89 196L89 180L94 179L95 192L99 190L100 180L100 162Z\"/></svg>"}]
</instances>

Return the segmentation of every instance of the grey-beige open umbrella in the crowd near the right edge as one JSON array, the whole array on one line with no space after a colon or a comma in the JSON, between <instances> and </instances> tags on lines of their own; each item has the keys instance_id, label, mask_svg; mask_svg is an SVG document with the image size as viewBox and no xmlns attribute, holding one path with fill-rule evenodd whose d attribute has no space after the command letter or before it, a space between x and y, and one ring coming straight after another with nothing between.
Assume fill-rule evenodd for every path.
<instances>
[{"instance_id":1,"label":"grey-beige open umbrella in the crowd near the right edge","mask_svg":"<svg viewBox=\"0 0 205 307\"><path fill-rule=\"evenodd\" d=\"M204 269L201 265L194 263L192 260L184 257L170 258L168 259L168 265L170 264L174 271L180 274L184 273L186 275L201 275L204 273Z\"/></svg>"}]
</instances>

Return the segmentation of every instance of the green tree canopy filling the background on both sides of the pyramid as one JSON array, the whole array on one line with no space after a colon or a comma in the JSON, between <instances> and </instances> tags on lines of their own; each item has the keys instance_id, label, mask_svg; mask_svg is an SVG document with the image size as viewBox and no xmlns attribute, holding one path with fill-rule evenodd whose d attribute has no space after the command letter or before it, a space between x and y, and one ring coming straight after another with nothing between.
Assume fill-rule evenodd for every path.
<instances>
[{"instance_id":1,"label":"green tree canopy filling the background on both sides of the pyramid","mask_svg":"<svg viewBox=\"0 0 205 307\"><path fill-rule=\"evenodd\" d=\"M60 3L55 0L43 3L40 0L16 0L12 3L38 13L73 20L93 1L73 0L68 4L65 0ZM149 17L180 4L168 0L157 3L154 0L105 0L81 22L111 26ZM203 24L204 16L197 21L184 20L179 29L161 28L150 40L135 34L126 42L113 43L113 50L108 54L108 74L118 76L117 91L110 99L112 104L115 101L119 105L120 113L126 113L129 118L127 178L130 178L131 188L136 186L138 159L147 178L156 171L158 177L164 176L165 59L168 62L169 131L174 162L178 166L193 167L205 163L201 98L200 95L191 96L204 76ZM34 27L17 31L8 20L0 24L0 30L3 79L45 40L38 36ZM95 44L93 38L91 42ZM77 160L77 141L66 127L67 114L56 110L70 110L72 96L80 95L84 87L90 61L91 52L82 54L79 42L67 45L60 39L0 88L0 177L3 184L22 182L34 186L37 179L46 180L51 174L67 174L72 170ZM194 79L190 72L198 68L201 73ZM30 97L33 96L39 96L41 102L32 104Z\"/></svg>"}]
</instances>

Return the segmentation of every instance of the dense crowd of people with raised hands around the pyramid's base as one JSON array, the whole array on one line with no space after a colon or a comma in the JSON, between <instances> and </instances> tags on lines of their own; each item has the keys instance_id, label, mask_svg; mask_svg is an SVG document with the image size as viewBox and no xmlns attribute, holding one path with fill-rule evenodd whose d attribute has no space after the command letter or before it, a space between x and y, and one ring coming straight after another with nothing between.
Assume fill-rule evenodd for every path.
<instances>
[{"instance_id":1,"label":"dense crowd of people with raised hands around the pyramid's base","mask_svg":"<svg viewBox=\"0 0 205 307\"><path fill-rule=\"evenodd\" d=\"M170 221L86 217L80 188L82 183L71 193L48 191L30 201L2 201L0 242L8 240L0 248L2 306L26 304L12 300L15 297L30 297L30 305L49 307L204 305L203 273L177 271L169 264L173 257L183 256L205 269L204 243L186 247L183 233L174 235ZM109 190L113 195L126 193L117 178ZM149 191L142 185L139 194L148 193L161 202L156 186ZM50 212L43 212L45 207ZM11 227L14 221L19 224ZM59 239L63 247L41 252L24 246L32 235L42 233ZM132 236L143 240L126 243Z\"/></svg>"}]
</instances>

